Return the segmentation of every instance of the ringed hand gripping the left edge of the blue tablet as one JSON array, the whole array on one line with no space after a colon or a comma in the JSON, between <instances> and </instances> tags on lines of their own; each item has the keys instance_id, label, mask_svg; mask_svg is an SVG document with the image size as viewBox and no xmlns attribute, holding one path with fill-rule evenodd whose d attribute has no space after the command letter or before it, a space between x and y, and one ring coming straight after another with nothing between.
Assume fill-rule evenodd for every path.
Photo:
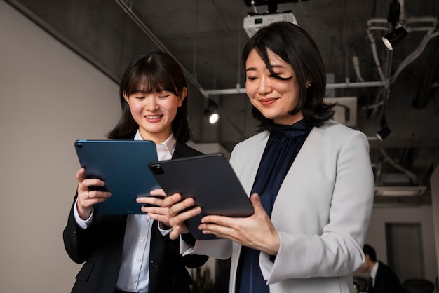
<instances>
[{"instance_id":1,"label":"ringed hand gripping the left edge of the blue tablet","mask_svg":"<svg viewBox=\"0 0 439 293\"><path fill-rule=\"evenodd\" d=\"M90 186L104 186L105 182L100 179L85 179L85 172L85 168L81 168L76 172L76 179L78 179L78 202L76 209L78 210L79 217L83 220L90 217L95 203L102 203L112 195L107 191L90 191Z\"/></svg>"}]
</instances>

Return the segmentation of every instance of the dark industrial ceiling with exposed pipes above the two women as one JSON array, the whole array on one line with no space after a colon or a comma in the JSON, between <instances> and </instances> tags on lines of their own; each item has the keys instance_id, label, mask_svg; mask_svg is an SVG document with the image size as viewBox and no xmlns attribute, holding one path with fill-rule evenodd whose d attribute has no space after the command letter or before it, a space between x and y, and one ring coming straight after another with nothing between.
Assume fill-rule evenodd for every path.
<instances>
[{"instance_id":1,"label":"dark industrial ceiling with exposed pipes above the two women","mask_svg":"<svg viewBox=\"0 0 439 293\"><path fill-rule=\"evenodd\" d=\"M286 1L276 8L292 11L318 44L328 73L327 95L342 104L347 100L340 99L355 97L350 126L370 137L377 186L427 186L422 196L377 196L375 203L428 205L428 179L439 162L439 2L399 0L409 34L389 53L381 36L389 32L391 1ZM165 50L173 55L189 81L196 142L218 142L231 151L255 134L257 125L243 92L241 50L248 40L243 18L266 13L266 0L254 1L262 4L257 6L248 6L250 0L6 2L116 82L139 53ZM420 48L428 30L433 37ZM358 57L358 67L353 57ZM383 81L390 81L389 86ZM220 108L215 125L203 116L208 98ZM380 142L375 133L381 128L384 101L391 134Z\"/></svg>"}]
</instances>

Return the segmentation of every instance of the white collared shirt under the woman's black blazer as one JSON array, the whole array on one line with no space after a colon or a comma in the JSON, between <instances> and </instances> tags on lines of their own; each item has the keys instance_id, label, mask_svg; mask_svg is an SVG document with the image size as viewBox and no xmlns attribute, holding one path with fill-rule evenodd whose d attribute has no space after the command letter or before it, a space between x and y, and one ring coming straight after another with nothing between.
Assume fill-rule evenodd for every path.
<instances>
[{"instance_id":1,"label":"white collared shirt under the woman's black blazer","mask_svg":"<svg viewBox=\"0 0 439 293\"><path fill-rule=\"evenodd\" d=\"M134 140L143 140L139 131ZM164 142L156 144L158 161L170 160L174 154L176 139L173 134ZM86 229L93 219L93 212L85 221L74 208L76 223ZM129 292L148 292L149 248L153 220L147 214L128 215L123 239L123 252L116 289ZM169 231L161 230L165 235Z\"/></svg>"}]
</instances>

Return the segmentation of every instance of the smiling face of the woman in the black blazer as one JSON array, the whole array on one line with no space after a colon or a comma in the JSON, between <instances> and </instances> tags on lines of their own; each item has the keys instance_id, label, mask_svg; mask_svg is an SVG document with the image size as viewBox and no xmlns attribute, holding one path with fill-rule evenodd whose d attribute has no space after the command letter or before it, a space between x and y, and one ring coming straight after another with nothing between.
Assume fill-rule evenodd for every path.
<instances>
[{"instance_id":1,"label":"smiling face of the woman in the black blazer","mask_svg":"<svg viewBox=\"0 0 439 293\"><path fill-rule=\"evenodd\" d=\"M131 115L139 125L142 138L159 144L173 132L173 120L186 95L187 88L183 88L180 95L161 90L151 93L137 92L129 97L124 93L123 97L130 106Z\"/></svg>"}]
</instances>

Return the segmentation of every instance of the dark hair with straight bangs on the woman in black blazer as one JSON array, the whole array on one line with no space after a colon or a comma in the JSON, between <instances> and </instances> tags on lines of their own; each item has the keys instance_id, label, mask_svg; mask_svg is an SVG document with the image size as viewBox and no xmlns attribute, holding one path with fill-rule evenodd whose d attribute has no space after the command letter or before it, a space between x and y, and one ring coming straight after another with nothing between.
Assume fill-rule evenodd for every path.
<instances>
[{"instance_id":1,"label":"dark hair with straight bangs on the woman in black blazer","mask_svg":"<svg viewBox=\"0 0 439 293\"><path fill-rule=\"evenodd\" d=\"M173 57L163 52L144 53L128 65L119 86L119 99L122 115L116 127L107 134L109 139L133 139L139 125L130 112L130 107L123 97L134 93L152 93L167 90L174 95L181 95L187 88L186 79L180 65ZM187 118L187 98L177 109L172 128L177 141L187 142L191 139L191 128Z\"/></svg>"}]
</instances>

